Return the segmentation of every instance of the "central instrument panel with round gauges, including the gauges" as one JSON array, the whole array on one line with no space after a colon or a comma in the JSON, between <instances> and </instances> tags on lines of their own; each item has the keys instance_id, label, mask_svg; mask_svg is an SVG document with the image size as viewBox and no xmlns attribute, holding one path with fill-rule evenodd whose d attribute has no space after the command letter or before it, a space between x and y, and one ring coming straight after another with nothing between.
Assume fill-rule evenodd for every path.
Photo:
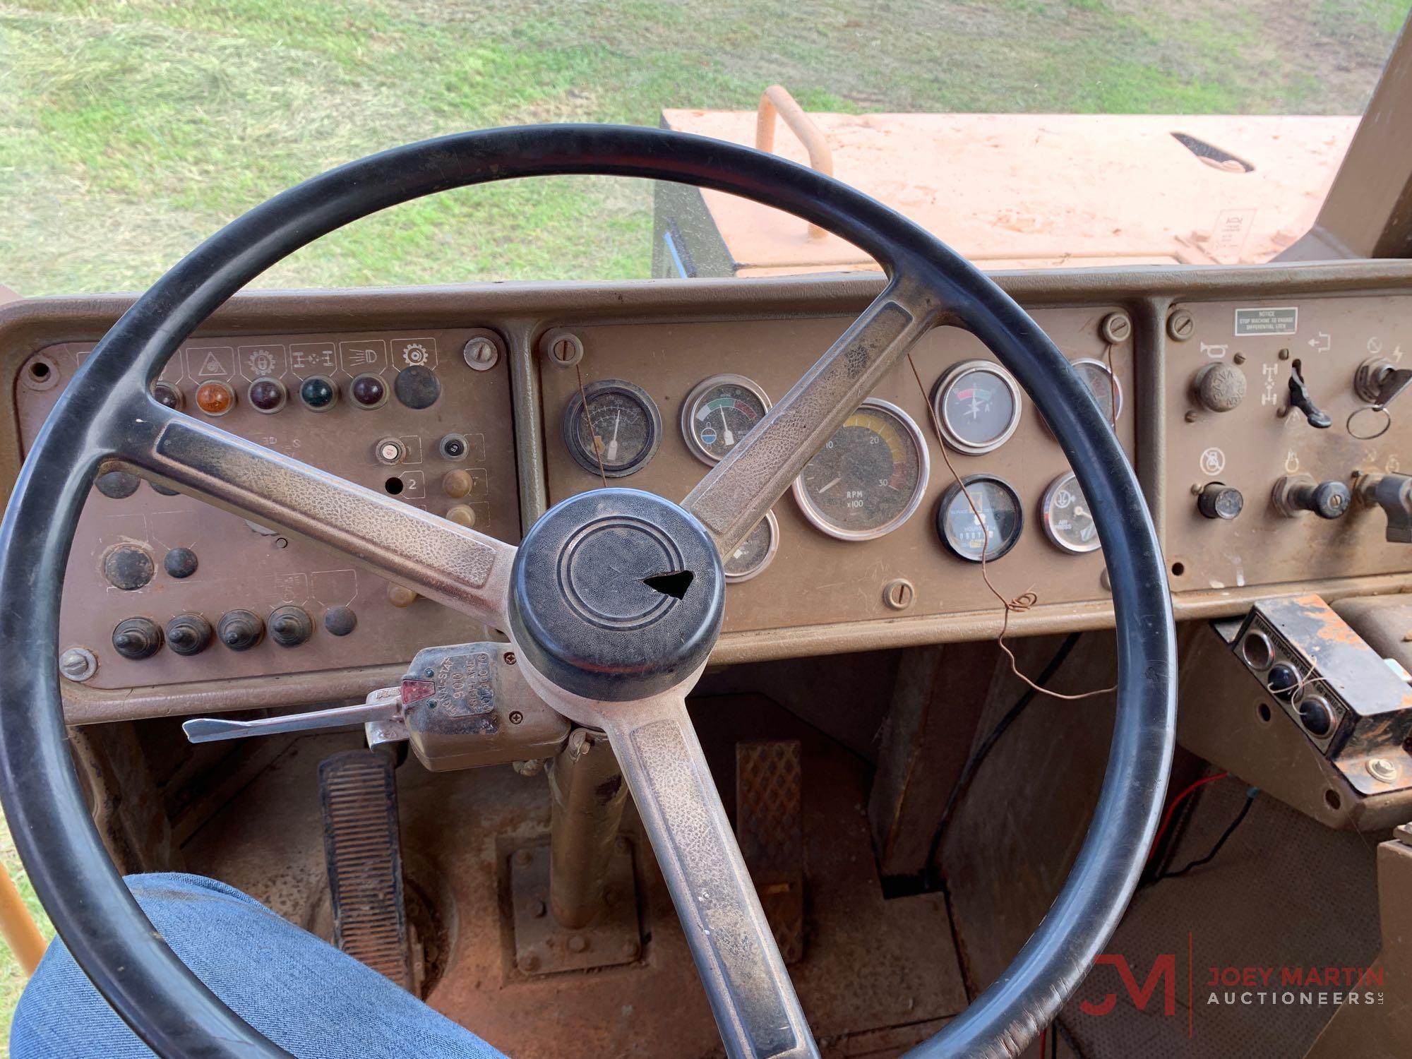
<instances>
[{"instance_id":1,"label":"central instrument panel with round gauges, including the gauges","mask_svg":"<svg viewBox=\"0 0 1412 1059\"><path fill-rule=\"evenodd\" d=\"M1132 328L1039 309L1132 453ZM539 343L551 503L603 483L681 500L851 321L586 325ZM995 587L1101 600L1103 554L1067 459L967 332L914 347L726 561L726 630L994 611ZM918 381L918 376L921 381Z\"/></svg>"}]
</instances>

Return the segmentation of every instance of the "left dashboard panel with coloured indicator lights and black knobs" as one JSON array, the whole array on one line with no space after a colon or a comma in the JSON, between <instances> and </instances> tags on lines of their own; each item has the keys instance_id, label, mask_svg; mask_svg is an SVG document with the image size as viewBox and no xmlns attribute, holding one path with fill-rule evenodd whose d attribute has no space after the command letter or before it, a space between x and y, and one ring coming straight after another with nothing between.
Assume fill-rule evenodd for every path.
<instances>
[{"instance_id":1,"label":"left dashboard panel with coloured indicator lights and black knobs","mask_svg":"<svg viewBox=\"0 0 1412 1059\"><path fill-rule=\"evenodd\" d=\"M20 370L28 449L92 343ZM486 329L192 339L154 383L188 415L400 501L520 539L510 381ZM69 556L61 669L99 689L405 664L477 623L313 541L100 477Z\"/></svg>"}]
</instances>

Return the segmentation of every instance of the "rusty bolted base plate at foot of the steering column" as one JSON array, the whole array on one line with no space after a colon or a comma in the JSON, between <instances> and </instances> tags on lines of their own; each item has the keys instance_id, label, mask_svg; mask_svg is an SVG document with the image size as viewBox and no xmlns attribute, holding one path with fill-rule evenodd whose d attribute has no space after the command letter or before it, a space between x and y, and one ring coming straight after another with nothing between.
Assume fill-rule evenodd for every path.
<instances>
[{"instance_id":1,"label":"rusty bolted base plate at foot of the steering column","mask_svg":"<svg viewBox=\"0 0 1412 1059\"><path fill-rule=\"evenodd\" d=\"M561 974L634 963L642 953L637 921L633 844L627 837L609 844L599 877L594 915L569 926L551 905L549 843L521 846L501 858L508 874L514 915L514 966L521 974Z\"/></svg>"}]
</instances>

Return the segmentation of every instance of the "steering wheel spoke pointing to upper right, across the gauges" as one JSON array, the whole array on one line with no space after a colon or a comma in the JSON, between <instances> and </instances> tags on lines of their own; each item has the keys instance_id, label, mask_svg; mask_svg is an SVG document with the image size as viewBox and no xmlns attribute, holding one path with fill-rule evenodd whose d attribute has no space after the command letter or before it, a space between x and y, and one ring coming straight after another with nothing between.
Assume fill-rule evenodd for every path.
<instances>
[{"instance_id":1,"label":"steering wheel spoke pointing to upper right, across the gauges","mask_svg":"<svg viewBox=\"0 0 1412 1059\"><path fill-rule=\"evenodd\" d=\"M722 556L750 535L882 374L935 322L936 297L905 275L839 336L764 419L682 501Z\"/></svg>"}]
</instances>

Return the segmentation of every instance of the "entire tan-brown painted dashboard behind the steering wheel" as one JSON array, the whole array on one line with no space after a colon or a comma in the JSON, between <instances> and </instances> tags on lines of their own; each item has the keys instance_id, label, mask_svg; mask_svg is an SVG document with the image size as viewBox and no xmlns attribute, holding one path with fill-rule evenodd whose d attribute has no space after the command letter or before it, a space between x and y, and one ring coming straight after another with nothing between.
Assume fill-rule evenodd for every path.
<instances>
[{"instance_id":1,"label":"entire tan-brown painted dashboard behind the steering wheel","mask_svg":"<svg viewBox=\"0 0 1412 1059\"><path fill-rule=\"evenodd\" d=\"M1070 360L1115 371L1115 429L1163 537L1179 617L1240 613L1255 597L1292 590L1336 597L1412 587L1412 549L1384 541L1377 508L1354 505L1341 518L1322 520L1282 515L1271 501L1282 476L1348 481L1360 470L1412 469L1412 398L1406 409L1394 404L1381 429L1382 419L1360 412L1368 401L1354 385L1365 361L1396 364L1412 353L1412 267L1091 270L998 281ZM566 409L576 426L580 385L597 393L613 380L630 383L658 417L655 453L610 483L681 498L707 470L683 433L682 407L693 388L729 374L778 398L877 289L873 278L810 277L251 294L225 306L162 378L192 415L205 415L202 402L217 409L229 387L234 407L215 418L222 426L515 541L548 504L600 484L592 462L573 459L568 448ZM0 309L13 394L0 457L10 480L82 357L126 305L66 298ZM1104 325L1114 313L1131 328L1110 342ZM477 329L503 343L489 370L463 357ZM578 366L563 367L545 352L541 339L551 329L582 345ZM1014 545L987 566L1007 597L1038 594L1034 607L1012 616L1017 633L1111 624L1101 552L1062 548L1045 530L1045 497L1052 500L1051 486L1067 465L1034 405L1021 398L1012 432L987 452L943 448L928 409L938 380L962 361L990 356L970 335L943 328L912 357L922 385L904 363L874 397L894 408L894 425L909 419L925 439L923 473L912 477L902 474L902 442L892 438L905 431L877 439L892 446L897 473L907 479L898 489L919 486L915 510L884 535L839 539L806 517L796 496L781 498L772 559L729 586L716 661L994 635L1003 611L979 563L959 558L939 535L938 511L947 494L955 503L957 474L990 476L1012 490L1018 517L1005 532ZM1289 408L1296 363L1312 402L1332 419L1327 429ZM336 404L319 411L301 398L311 377L312 404L318 377L337 393ZM973 385L977 378L981 385ZM1193 388L1199 378L1207 383L1206 398ZM256 380L278 385L253 393ZM994 381L993 374L963 380L950 394L952 412L981 415ZM436 391L431 402L426 387ZM1241 388L1238 404L1216 411ZM275 411L256 408L278 404L271 394L280 391ZM593 431L616 431L618 419ZM730 429L724 418L720 424L703 418L703 436ZM1375 429L1377 436L1363 436ZM1231 490L1240 493L1238 517L1202 514L1214 490L1203 504L1199 494L1213 483L1224 487L1227 510ZM487 635L313 542L164 496L148 483L131 491L131 483L109 486L117 496L95 490L85 508L64 592L61 644L97 658L89 679L65 682L71 720L346 699L400 675L419 647ZM833 483L813 487L827 491ZM964 522L950 521L963 539ZM195 572L168 570L174 549L195 555ZM217 640L198 654L165 645L141 659L121 657L112 642L113 628L128 617L162 626L201 614L216 627L230 611L268 621L278 607L309 616L304 642L282 647L264 635L250 650L232 651Z\"/></svg>"}]
</instances>

